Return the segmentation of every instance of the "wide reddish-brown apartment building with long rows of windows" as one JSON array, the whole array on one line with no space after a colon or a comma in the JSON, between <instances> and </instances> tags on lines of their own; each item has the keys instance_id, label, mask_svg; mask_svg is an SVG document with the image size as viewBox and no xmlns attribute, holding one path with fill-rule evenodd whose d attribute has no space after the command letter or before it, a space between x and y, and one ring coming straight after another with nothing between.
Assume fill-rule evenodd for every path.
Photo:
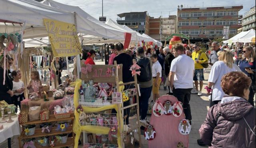
<instances>
[{"instance_id":1,"label":"wide reddish-brown apartment building with long rows of windows","mask_svg":"<svg viewBox=\"0 0 256 148\"><path fill-rule=\"evenodd\" d=\"M230 38L242 27L238 25L238 19L242 18L238 12L242 8L242 5L178 8L177 33L189 35L191 42L208 41L222 38L224 28L228 27Z\"/></svg>"}]
</instances>

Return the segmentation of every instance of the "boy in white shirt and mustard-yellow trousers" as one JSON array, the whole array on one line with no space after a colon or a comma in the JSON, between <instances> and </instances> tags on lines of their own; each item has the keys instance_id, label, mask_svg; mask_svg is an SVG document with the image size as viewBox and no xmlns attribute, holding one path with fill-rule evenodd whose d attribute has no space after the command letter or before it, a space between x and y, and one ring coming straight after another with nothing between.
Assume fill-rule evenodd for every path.
<instances>
[{"instance_id":1,"label":"boy in white shirt and mustard-yellow trousers","mask_svg":"<svg viewBox=\"0 0 256 148\"><path fill-rule=\"evenodd\" d=\"M152 66L152 77L153 77L153 99L154 101L156 101L156 99L158 97L160 97L159 95L159 88L160 88L160 84L162 82L162 66L161 64L158 62L157 60L157 55L156 54L152 54L150 56L152 62L153 62L153 66Z\"/></svg>"}]
</instances>

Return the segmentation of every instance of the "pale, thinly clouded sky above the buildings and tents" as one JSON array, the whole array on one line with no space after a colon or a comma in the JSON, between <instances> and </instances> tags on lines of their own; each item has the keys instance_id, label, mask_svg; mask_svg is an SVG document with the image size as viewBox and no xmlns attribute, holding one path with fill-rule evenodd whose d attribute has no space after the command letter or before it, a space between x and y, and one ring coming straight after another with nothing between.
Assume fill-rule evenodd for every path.
<instances>
[{"instance_id":1,"label":"pale, thinly clouded sky above the buildings and tents","mask_svg":"<svg viewBox=\"0 0 256 148\"><path fill-rule=\"evenodd\" d=\"M96 19L102 16L102 0L54 0L63 4L79 6L82 10ZM239 15L243 15L255 6L255 0L103 0L103 16L106 19L116 21L117 14L124 12L144 12L154 18L166 18L170 15L177 15L178 5L186 7L195 6L226 6L243 5ZM161 14L162 12L162 14Z\"/></svg>"}]
</instances>

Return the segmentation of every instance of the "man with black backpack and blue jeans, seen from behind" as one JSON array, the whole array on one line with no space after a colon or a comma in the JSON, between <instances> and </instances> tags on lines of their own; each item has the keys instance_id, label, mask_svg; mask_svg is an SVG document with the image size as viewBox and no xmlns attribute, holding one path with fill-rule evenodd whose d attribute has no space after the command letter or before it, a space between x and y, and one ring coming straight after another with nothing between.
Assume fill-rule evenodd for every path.
<instances>
[{"instance_id":1,"label":"man with black backpack and blue jeans, seen from behind","mask_svg":"<svg viewBox=\"0 0 256 148\"><path fill-rule=\"evenodd\" d=\"M146 123L148 111L148 99L152 92L152 61L145 57L144 50L140 46L136 49L137 64L140 66L140 75L137 75L138 84L140 84L139 107L141 122Z\"/></svg>"}]
</instances>

